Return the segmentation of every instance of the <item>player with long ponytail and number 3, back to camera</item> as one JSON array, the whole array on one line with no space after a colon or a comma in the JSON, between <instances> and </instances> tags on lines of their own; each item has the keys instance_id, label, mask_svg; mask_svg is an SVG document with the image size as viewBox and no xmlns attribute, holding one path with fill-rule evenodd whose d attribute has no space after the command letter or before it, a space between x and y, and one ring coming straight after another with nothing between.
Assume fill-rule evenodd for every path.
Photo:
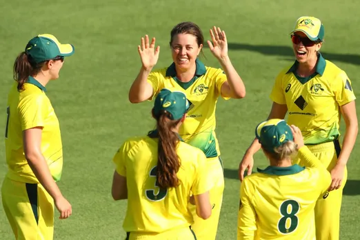
<instances>
[{"instance_id":1,"label":"player with long ponytail and number 3, back to camera","mask_svg":"<svg viewBox=\"0 0 360 240\"><path fill-rule=\"evenodd\" d=\"M211 215L206 156L178 134L188 108L183 92L161 90L152 108L156 130L126 140L114 156L112 197L128 199L127 240L197 239L190 197L201 219Z\"/></svg>"}]
</instances>

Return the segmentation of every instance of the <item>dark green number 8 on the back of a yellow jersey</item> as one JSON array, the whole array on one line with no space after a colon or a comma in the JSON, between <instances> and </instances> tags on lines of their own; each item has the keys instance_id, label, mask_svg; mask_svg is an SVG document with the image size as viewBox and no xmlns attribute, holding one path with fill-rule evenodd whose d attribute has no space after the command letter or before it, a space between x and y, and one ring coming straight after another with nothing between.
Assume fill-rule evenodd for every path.
<instances>
[{"instance_id":1,"label":"dark green number 8 on the back of a yellow jersey","mask_svg":"<svg viewBox=\"0 0 360 240\"><path fill-rule=\"evenodd\" d=\"M281 219L277 222L277 229L282 234L294 232L299 225L297 213L300 210L300 204L294 200L286 200L281 203L279 211Z\"/></svg>"}]
</instances>

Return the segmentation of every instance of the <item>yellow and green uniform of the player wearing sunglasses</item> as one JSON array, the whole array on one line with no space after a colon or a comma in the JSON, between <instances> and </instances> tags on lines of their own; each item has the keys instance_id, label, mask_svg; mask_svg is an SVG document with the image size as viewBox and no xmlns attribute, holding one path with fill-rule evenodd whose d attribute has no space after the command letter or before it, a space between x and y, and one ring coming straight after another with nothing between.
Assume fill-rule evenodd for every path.
<instances>
[{"instance_id":1,"label":"yellow and green uniform of the player wearing sunglasses","mask_svg":"<svg viewBox=\"0 0 360 240\"><path fill-rule=\"evenodd\" d=\"M321 54L316 71L310 77L297 75L298 64L295 61L280 72L270 98L275 103L286 104L288 124L300 128L306 145L330 171L341 150L340 108L355 99L351 81L346 72L323 59ZM295 159L294 163L306 166L300 159ZM317 239L339 239L339 215L346 178L347 170L341 188L334 190L326 202L319 201L315 208Z\"/></svg>"}]
</instances>

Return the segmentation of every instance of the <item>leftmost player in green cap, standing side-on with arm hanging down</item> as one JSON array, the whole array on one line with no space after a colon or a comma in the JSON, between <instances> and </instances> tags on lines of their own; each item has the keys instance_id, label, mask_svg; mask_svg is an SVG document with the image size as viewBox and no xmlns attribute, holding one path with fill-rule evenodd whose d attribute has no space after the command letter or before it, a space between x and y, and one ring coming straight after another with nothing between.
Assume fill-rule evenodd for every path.
<instances>
[{"instance_id":1,"label":"leftmost player in green cap, standing side-on with arm hanging down","mask_svg":"<svg viewBox=\"0 0 360 240\"><path fill-rule=\"evenodd\" d=\"M3 208L15 239L52 239L54 206L60 219L72 214L57 181L63 152L57 115L46 85L59 78L64 57L74 53L51 34L31 39L14 62L5 131L8 172L1 188Z\"/></svg>"}]
</instances>

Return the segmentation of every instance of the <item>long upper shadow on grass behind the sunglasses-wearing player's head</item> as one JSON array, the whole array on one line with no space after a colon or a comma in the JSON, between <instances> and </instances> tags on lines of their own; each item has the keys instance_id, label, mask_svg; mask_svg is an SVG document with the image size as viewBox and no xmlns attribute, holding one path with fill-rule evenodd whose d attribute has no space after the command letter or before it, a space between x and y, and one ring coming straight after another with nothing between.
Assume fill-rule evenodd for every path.
<instances>
[{"instance_id":1,"label":"long upper shadow on grass behind the sunglasses-wearing player's head","mask_svg":"<svg viewBox=\"0 0 360 240\"><path fill-rule=\"evenodd\" d=\"M208 48L208 46L205 44ZM274 55L281 57L291 57L294 59L294 52L290 46L270 46L270 45L250 45L247 43L228 43L229 50L249 50L259 52L265 55ZM323 57L329 61L341 61L343 63L351 63L360 65L360 55L358 54L337 54L330 52L322 52Z\"/></svg>"}]
</instances>

